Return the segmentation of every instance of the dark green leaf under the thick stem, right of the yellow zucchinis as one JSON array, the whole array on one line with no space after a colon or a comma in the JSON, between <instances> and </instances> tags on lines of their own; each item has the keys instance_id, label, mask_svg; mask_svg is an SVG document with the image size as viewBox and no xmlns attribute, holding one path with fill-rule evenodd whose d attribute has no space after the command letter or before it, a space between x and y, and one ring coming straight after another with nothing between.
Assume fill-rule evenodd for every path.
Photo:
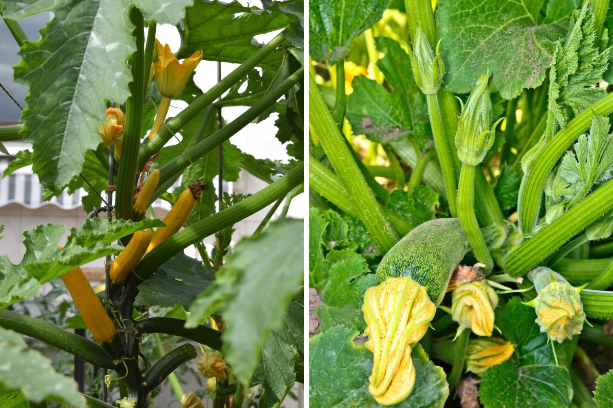
<instances>
[{"instance_id":1,"label":"dark green leaf under the thick stem, right of the yellow zucchinis","mask_svg":"<svg viewBox=\"0 0 613 408\"><path fill-rule=\"evenodd\" d=\"M158 305L162 308L181 305L188 308L214 280L212 269L180 252L164 262L151 278L139 284L134 305Z\"/></svg>"}]
</instances>

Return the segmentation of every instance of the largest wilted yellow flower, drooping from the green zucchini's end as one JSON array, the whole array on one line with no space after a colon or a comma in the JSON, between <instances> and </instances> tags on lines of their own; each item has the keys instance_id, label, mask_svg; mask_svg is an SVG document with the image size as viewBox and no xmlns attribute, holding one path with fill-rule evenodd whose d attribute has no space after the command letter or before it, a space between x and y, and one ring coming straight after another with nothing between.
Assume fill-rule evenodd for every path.
<instances>
[{"instance_id":1,"label":"largest wilted yellow flower, drooping from the green zucchini's end","mask_svg":"<svg viewBox=\"0 0 613 408\"><path fill-rule=\"evenodd\" d=\"M379 404L397 404L413 390L411 344L428 330L436 306L424 287L406 276L370 287L362 311L367 323L364 333L369 337L365 346L373 352L368 390Z\"/></svg>"}]
</instances>

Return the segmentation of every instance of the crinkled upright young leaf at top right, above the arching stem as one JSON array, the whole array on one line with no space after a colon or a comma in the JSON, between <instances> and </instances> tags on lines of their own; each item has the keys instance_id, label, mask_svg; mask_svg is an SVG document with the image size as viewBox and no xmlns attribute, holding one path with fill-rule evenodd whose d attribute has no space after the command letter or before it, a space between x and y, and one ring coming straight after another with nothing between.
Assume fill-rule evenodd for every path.
<instances>
[{"instance_id":1,"label":"crinkled upright young leaf at top right, above the arching stem","mask_svg":"<svg viewBox=\"0 0 613 408\"><path fill-rule=\"evenodd\" d=\"M579 17L571 18L565 45L558 45L549 71L549 110L564 128L572 114L584 111L606 91L598 87L607 69L609 51L599 51L590 1L585 1Z\"/></svg>"}]
</instances>

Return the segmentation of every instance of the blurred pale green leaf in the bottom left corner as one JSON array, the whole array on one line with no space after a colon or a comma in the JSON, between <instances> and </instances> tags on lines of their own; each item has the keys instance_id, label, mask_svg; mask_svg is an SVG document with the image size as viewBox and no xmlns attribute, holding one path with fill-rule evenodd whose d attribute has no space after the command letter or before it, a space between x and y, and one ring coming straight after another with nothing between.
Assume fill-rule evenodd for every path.
<instances>
[{"instance_id":1,"label":"blurred pale green leaf in the bottom left corner","mask_svg":"<svg viewBox=\"0 0 613 408\"><path fill-rule=\"evenodd\" d=\"M77 383L57 373L51 361L29 349L21 335L0 328L0 355L3 366L0 386L4 390L19 390L33 402L66 402L70 406L86 407Z\"/></svg>"}]
</instances>

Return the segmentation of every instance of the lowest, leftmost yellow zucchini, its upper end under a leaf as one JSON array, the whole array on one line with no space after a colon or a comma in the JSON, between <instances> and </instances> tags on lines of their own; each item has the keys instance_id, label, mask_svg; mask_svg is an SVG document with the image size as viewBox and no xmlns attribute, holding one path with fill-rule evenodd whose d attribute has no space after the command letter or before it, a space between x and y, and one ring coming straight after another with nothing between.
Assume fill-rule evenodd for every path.
<instances>
[{"instance_id":1,"label":"lowest, leftmost yellow zucchini, its upper end under a leaf","mask_svg":"<svg viewBox=\"0 0 613 408\"><path fill-rule=\"evenodd\" d=\"M76 267L64 273L62 280L94 339L99 343L111 341L115 336L115 325L104 310L91 284L83 275L81 268Z\"/></svg>"}]
</instances>

